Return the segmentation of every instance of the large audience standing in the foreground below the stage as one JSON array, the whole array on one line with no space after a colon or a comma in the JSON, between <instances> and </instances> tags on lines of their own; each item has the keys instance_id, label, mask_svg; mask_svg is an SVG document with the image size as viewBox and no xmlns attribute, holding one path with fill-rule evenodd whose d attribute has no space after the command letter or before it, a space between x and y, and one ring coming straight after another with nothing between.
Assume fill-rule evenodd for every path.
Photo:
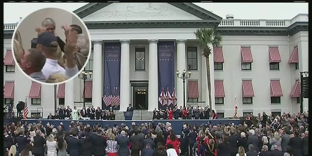
<instances>
[{"instance_id":1,"label":"large audience standing in the foreground below the stage","mask_svg":"<svg viewBox=\"0 0 312 156\"><path fill-rule=\"evenodd\" d=\"M307 113L262 122L185 123L179 137L169 122L110 127L72 121L66 130L63 123L9 123L3 156L308 156Z\"/></svg>"}]
</instances>

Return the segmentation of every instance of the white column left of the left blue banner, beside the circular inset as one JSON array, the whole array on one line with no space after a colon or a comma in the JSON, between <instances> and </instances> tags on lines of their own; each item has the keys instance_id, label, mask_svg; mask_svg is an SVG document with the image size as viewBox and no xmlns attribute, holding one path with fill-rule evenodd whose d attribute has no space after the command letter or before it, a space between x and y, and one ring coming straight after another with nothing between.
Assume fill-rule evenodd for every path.
<instances>
[{"instance_id":1,"label":"white column left of the left blue banner, beside the circular inset","mask_svg":"<svg viewBox=\"0 0 312 156\"><path fill-rule=\"evenodd\" d=\"M93 40L92 104L102 108L102 40Z\"/></svg>"}]
</instances>

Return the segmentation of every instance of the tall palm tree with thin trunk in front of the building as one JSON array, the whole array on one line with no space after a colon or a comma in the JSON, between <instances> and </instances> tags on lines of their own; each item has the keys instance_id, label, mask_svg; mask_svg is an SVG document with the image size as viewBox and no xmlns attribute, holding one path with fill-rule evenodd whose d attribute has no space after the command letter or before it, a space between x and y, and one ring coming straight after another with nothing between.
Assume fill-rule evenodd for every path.
<instances>
[{"instance_id":1,"label":"tall palm tree with thin trunk in front of the building","mask_svg":"<svg viewBox=\"0 0 312 156\"><path fill-rule=\"evenodd\" d=\"M207 81L208 81L208 95L209 95L209 106L212 109L212 99L211 99L211 81L210 81L210 61L209 56L212 53L212 46L218 46L222 40L222 37L216 31L216 27L207 29L199 28L195 31L195 37L203 46L202 55L206 58L206 71L207 71Z\"/></svg>"}]
</instances>

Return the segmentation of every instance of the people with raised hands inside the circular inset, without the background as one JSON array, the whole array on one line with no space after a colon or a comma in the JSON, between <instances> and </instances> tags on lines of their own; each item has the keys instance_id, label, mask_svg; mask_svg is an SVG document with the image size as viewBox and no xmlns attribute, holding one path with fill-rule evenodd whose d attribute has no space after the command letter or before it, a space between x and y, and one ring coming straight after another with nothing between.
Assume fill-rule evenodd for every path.
<instances>
[{"instance_id":1,"label":"people with raised hands inside the circular inset, without the background","mask_svg":"<svg viewBox=\"0 0 312 156\"><path fill-rule=\"evenodd\" d=\"M66 43L55 34L56 22L51 18L36 28L38 38L32 48L23 49L20 32L16 31L13 52L17 64L29 77L47 83L57 83L75 76L85 64L90 40L77 24L63 25Z\"/></svg>"}]
</instances>

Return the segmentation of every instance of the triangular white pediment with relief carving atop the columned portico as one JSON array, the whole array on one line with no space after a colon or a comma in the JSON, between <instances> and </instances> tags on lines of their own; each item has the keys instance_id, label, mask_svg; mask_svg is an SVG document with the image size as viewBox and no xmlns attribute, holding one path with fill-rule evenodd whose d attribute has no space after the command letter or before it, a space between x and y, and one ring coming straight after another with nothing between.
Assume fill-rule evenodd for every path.
<instances>
[{"instance_id":1,"label":"triangular white pediment with relief carving atop the columned portico","mask_svg":"<svg viewBox=\"0 0 312 156\"><path fill-rule=\"evenodd\" d=\"M222 19L192 3L89 3L74 13L85 22Z\"/></svg>"}]
</instances>

